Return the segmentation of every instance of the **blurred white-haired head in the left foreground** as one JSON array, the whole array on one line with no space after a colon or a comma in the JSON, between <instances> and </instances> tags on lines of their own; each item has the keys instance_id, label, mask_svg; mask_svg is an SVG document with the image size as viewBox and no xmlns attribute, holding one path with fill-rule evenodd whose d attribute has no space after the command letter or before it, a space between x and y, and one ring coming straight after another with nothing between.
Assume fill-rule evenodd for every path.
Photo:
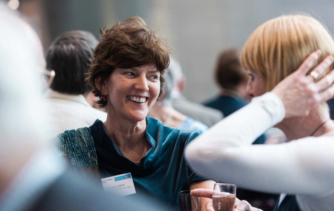
<instances>
[{"instance_id":1,"label":"blurred white-haired head in the left foreground","mask_svg":"<svg viewBox=\"0 0 334 211\"><path fill-rule=\"evenodd\" d=\"M0 192L43 144L43 50L35 31L0 2Z\"/></svg>"}]
</instances>

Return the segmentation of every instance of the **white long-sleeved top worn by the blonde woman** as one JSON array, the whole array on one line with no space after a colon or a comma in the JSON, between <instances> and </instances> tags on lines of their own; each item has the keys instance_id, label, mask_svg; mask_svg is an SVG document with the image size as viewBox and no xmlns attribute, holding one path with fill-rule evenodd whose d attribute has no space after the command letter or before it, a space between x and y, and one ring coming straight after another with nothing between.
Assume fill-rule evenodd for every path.
<instances>
[{"instance_id":1,"label":"white long-sleeved top worn by the blonde woman","mask_svg":"<svg viewBox=\"0 0 334 211\"><path fill-rule=\"evenodd\" d=\"M295 194L303 211L333 210L333 131L284 144L251 145L284 116L284 105L274 93L255 97L193 140L186 158L194 171L210 178L258 191Z\"/></svg>"}]
</instances>

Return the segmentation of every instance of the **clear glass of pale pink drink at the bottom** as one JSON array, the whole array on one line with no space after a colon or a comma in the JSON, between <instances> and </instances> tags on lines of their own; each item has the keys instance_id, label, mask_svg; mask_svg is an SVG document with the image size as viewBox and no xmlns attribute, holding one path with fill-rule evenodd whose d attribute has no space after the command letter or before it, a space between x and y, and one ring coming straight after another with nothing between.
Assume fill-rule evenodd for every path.
<instances>
[{"instance_id":1,"label":"clear glass of pale pink drink at the bottom","mask_svg":"<svg viewBox=\"0 0 334 211\"><path fill-rule=\"evenodd\" d=\"M215 211L233 211L236 186L233 184L216 183L213 186L212 205Z\"/></svg>"}]
</instances>

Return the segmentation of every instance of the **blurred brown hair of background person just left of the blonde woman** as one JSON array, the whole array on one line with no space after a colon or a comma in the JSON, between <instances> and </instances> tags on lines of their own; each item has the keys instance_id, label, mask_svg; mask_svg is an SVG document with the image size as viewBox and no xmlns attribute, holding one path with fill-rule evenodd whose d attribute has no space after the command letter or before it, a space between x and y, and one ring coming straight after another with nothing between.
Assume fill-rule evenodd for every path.
<instances>
[{"instance_id":1,"label":"blurred brown hair of background person just left of the blonde woman","mask_svg":"<svg viewBox=\"0 0 334 211\"><path fill-rule=\"evenodd\" d=\"M221 88L235 89L240 83L247 81L248 75L240 63L240 50L230 48L219 53L214 77Z\"/></svg>"}]
</instances>

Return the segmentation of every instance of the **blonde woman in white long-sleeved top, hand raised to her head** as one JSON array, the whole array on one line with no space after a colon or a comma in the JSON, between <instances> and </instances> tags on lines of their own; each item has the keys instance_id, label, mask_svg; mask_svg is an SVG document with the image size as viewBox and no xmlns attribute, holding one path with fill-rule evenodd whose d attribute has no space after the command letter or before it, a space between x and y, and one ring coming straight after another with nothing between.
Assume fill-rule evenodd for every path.
<instances>
[{"instance_id":1,"label":"blonde woman in white long-sleeved top, hand raised to her head","mask_svg":"<svg viewBox=\"0 0 334 211\"><path fill-rule=\"evenodd\" d=\"M332 55L333 39L312 17L280 16L259 26L241 55L254 98L190 143L185 153L191 167L227 183L283 193L275 210L332 210L334 123L324 102L334 93ZM293 141L251 145L273 126ZM256 210L240 204L235 210Z\"/></svg>"}]
</instances>

